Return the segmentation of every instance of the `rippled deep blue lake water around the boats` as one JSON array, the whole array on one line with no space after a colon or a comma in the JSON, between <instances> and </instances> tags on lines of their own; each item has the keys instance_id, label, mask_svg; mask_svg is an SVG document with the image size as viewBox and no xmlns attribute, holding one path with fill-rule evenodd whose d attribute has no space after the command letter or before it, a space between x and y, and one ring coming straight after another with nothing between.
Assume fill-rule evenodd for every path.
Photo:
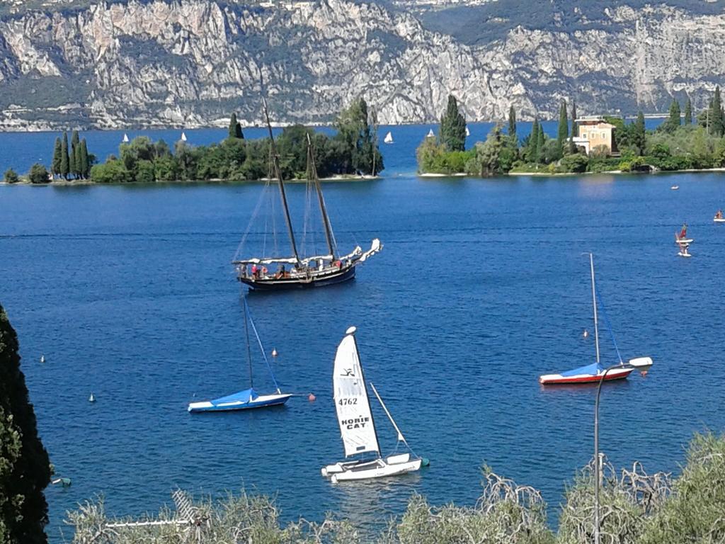
<instances>
[{"instance_id":1,"label":"rippled deep blue lake water around the boats","mask_svg":"<svg viewBox=\"0 0 725 544\"><path fill-rule=\"evenodd\" d=\"M646 378L605 387L602 450L618 466L676 471L693 432L723 429L725 226L712 217L724 176L422 179L413 152L427 131L394 129L384 179L324 186L341 248L385 244L354 282L249 297L283 388L318 396L253 413L191 416L186 404L247 387L230 260L259 184L0 186L0 301L43 442L73 482L47 490L54 542L79 501L102 493L112 514L140 514L176 486L245 487L276 495L284 519L337 511L370 527L414 491L473 504L482 463L556 506L592 456L595 390L537 376L594 358L581 337L592 330L587 251L623 356L655 360ZM300 210L305 187L289 198ZM683 221L689 260L674 244ZM419 474L320 477L342 455L331 369L352 324L368 379L431 459ZM605 326L602 358L616 362ZM270 387L259 366L255 385ZM394 431L373 409L389 451Z\"/></svg>"}]
</instances>

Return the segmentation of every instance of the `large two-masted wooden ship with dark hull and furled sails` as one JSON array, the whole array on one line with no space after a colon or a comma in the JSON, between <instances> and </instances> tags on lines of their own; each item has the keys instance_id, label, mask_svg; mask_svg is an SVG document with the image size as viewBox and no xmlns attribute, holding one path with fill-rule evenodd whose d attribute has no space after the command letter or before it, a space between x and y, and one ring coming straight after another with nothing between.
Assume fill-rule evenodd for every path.
<instances>
[{"instance_id":1,"label":"large two-masted wooden ship with dark hull and furled sails","mask_svg":"<svg viewBox=\"0 0 725 544\"><path fill-rule=\"evenodd\" d=\"M352 252L347 255L340 255L337 250L335 236L328 217L325 198L323 197L322 186L315 166L315 150L312 147L312 140L309 133L307 134L307 181L314 188L316 205L319 207L323 231L325 234L326 251L312 252L312 255L301 255L297 247L297 238L292 226L291 215L289 213L289 205L285 184L282 178L281 168L279 165L279 157L276 152L272 127L270 125L269 115L265 104L265 118L269 130L270 138L270 177L268 186L276 181L281 199L284 221L286 224L287 236L289 238L289 253L286 255L264 255L253 257L239 257L241 248L244 246L244 239L240 244L240 249L232 261L236 266L236 276L239 281L247 284L250 289L254 290L281 290L296 289L304 287L322 287L325 285L339 284L355 278L355 267L372 255L383 249L379 239L373 239L370 249L363 251L360 246L355 247ZM308 185L309 187L309 185ZM265 188L266 189L266 188ZM259 206L257 206L259 209ZM305 223L307 226L307 222ZM276 235L275 235L276 240ZM291 254L291 255L290 255ZM277 271L268 271L267 265L276 265ZM286 268L286 265L291 265Z\"/></svg>"}]
</instances>

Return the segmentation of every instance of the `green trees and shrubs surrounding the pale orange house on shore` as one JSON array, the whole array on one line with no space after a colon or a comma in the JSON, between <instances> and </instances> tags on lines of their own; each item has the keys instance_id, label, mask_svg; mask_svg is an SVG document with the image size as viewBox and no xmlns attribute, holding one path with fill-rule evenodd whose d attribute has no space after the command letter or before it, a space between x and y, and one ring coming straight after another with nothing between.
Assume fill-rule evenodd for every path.
<instances>
[{"instance_id":1,"label":"green trees and shrubs surrounding the pale orange house on shore","mask_svg":"<svg viewBox=\"0 0 725 544\"><path fill-rule=\"evenodd\" d=\"M578 125L588 120L577 118L573 102L571 108L566 101L561 102L555 138L544 134L542 123L535 119L531 133L521 139L516 133L513 107L508 117L508 129L497 124L485 141L465 149L465 118L455 96L449 96L437 136L426 136L416 151L418 173L498 176L725 167L725 112L719 86L708 107L698 115L693 112L689 99L684 115L679 102L673 100L668 118L653 131L645 129L642 111L633 123L626 123L618 116L600 116L600 123L612 137L608 146L590 147L589 141L581 138L581 132L586 136L586 131L578 131Z\"/></svg>"}]
</instances>

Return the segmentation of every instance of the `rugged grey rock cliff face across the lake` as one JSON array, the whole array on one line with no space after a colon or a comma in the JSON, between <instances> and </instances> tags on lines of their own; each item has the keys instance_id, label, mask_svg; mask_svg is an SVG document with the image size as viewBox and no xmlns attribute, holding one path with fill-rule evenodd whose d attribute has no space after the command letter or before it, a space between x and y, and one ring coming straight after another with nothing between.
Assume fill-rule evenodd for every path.
<instances>
[{"instance_id":1,"label":"rugged grey rock cliff face across the lake","mask_svg":"<svg viewBox=\"0 0 725 544\"><path fill-rule=\"evenodd\" d=\"M575 8L576 10L576 8ZM440 17L445 16L445 11ZM725 70L725 15L604 9L576 30L518 25L466 45L380 4L322 0L100 3L0 19L0 128L225 125L236 110L324 123L359 95L381 123L436 120L454 93L470 120L704 107Z\"/></svg>"}]
</instances>

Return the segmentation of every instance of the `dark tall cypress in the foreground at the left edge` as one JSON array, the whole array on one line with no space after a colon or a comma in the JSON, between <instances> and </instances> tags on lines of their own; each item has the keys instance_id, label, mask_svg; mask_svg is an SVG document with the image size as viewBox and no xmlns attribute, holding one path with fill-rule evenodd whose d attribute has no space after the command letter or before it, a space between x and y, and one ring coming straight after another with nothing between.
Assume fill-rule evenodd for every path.
<instances>
[{"instance_id":1,"label":"dark tall cypress in the foreground at the left edge","mask_svg":"<svg viewBox=\"0 0 725 544\"><path fill-rule=\"evenodd\" d=\"M20 370L17 334L0 305L0 543L45 544L48 453Z\"/></svg>"}]
</instances>

